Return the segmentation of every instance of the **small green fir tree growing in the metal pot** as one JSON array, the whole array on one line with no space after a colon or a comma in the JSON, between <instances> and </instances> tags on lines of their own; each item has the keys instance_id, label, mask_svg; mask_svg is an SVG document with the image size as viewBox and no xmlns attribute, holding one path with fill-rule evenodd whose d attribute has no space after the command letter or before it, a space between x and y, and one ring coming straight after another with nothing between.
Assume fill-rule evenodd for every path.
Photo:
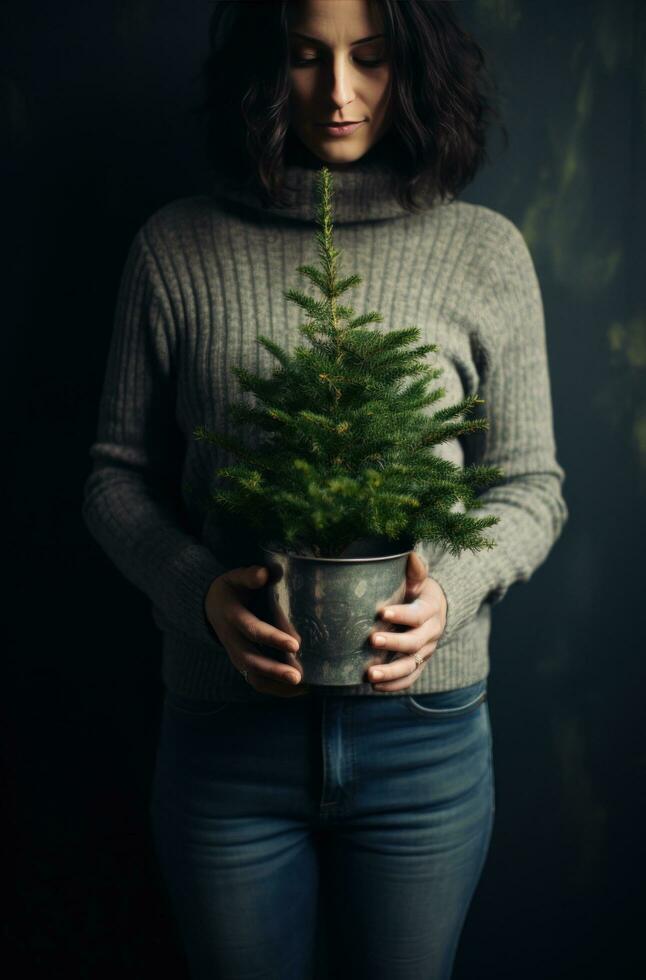
<instances>
[{"instance_id":1,"label":"small green fir tree growing in the metal pot","mask_svg":"<svg viewBox=\"0 0 646 980\"><path fill-rule=\"evenodd\" d=\"M484 401L469 395L432 415L423 411L445 394L441 387L427 391L443 369L426 363L426 355L439 348L412 346L420 337L415 326L367 329L383 320L380 313L355 316L341 304L339 298L362 279L339 278L332 175L325 166L317 190L320 267L301 265L298 271L322 298L299 289L284 293L309 318L298 328L308 344L290 355L261 335L258 342L279 362L272 377L233 369L257 404L234 403L229 417L262 430L259 448L204 426L194 429L196 439L242 460L216 470L231 486L212 492L208 506L223 519L242 517L264 544L316 557L338 557L349 544L374 536L411 547L437 541L454 555L492 548L495 542L480 532L499 518L452 508L457 501L465 511L481 508L478 490L500 482L504 471L462 468L433 452L439 443L487 428L484 418L460 418Z\"/></svg>"}]
</instances>

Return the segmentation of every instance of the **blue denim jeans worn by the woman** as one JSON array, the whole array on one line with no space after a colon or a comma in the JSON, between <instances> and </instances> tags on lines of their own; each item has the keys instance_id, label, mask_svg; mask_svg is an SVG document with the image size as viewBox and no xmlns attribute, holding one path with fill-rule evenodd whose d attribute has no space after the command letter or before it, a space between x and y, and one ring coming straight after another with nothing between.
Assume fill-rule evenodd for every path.
<instances>
[{"instance_id":1,"label":"blue denim jeans worn by the woman","mask_svg":"<svg viewBox=\"0 0 646 980\"><path fill-rule=\"evenodd\" d=\"M494 819L486 680L166 695L153 840L191 980L447 980Z\"/></svg>"}]
</instances>

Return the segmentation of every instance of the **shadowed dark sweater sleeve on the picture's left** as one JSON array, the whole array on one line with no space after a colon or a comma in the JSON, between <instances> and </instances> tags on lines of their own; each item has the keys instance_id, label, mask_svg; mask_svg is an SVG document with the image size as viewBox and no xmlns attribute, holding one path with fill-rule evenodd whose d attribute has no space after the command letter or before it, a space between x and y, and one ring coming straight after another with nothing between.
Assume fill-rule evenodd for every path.
<instances>
[{"instance_id":1,"label":"shadowed dark sweater sleeve on the picture's left","mask_svg":"<svg viewBox=\"0 0 646 980\"><path fill-rule=\"evenodd\" d=\"M83 519L159 620L216 651L204 597L224 568L190 532L174 482L181 471L175 341L172 303L140 229L117 297Z\"/></svg>"}]
</instances>

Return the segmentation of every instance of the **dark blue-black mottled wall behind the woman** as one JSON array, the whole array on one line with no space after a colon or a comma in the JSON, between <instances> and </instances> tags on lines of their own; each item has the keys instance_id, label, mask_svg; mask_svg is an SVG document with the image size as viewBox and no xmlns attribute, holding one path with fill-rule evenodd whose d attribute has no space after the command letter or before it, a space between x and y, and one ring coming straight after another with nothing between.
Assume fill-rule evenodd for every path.
<instances>
[{"instance_id":1,"label":"dark blue-black mottled wall behind the woman","mask_svg":"<svg viewBox=\"0 0 646 980\"><path fill-rule=\"evenodd\" d=\"M646 8L459 6L511 137L463 198L508 215L534 256L570 520L495 609L496 825L455 977L639 976ZM3 951L21 964L5 975L185 976L147 825L160 637L80 510L127 246L155 208L208 186L192 108L210 10L2 10L0 889Z\"/></svg>"}]
</instances>

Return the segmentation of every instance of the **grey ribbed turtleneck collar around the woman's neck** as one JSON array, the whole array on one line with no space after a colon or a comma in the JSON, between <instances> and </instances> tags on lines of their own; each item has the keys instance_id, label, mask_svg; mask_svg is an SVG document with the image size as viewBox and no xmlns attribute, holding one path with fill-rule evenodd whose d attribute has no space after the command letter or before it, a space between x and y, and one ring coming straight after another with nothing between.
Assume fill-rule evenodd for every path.
<instances>
[{"instance_id":1,"label":"grey ribbed turtleneck collar around the woman's neck","mask_svg":"<svg viewBox=\"0 0 646 980\"><path fill-rule=\"evenodd\" d=\"M288 164L284 181L287 206L284 207L263 206L252 186L233 178L218 175L213 190L217 197L241 204L259 215L314 224L319 172L318 166ZM367 159L360 159L344 170L332 170L332 213L335 224L403 218L411 214L392 193L388 167L382 161Z\"/></svg>"}]
</instances>

